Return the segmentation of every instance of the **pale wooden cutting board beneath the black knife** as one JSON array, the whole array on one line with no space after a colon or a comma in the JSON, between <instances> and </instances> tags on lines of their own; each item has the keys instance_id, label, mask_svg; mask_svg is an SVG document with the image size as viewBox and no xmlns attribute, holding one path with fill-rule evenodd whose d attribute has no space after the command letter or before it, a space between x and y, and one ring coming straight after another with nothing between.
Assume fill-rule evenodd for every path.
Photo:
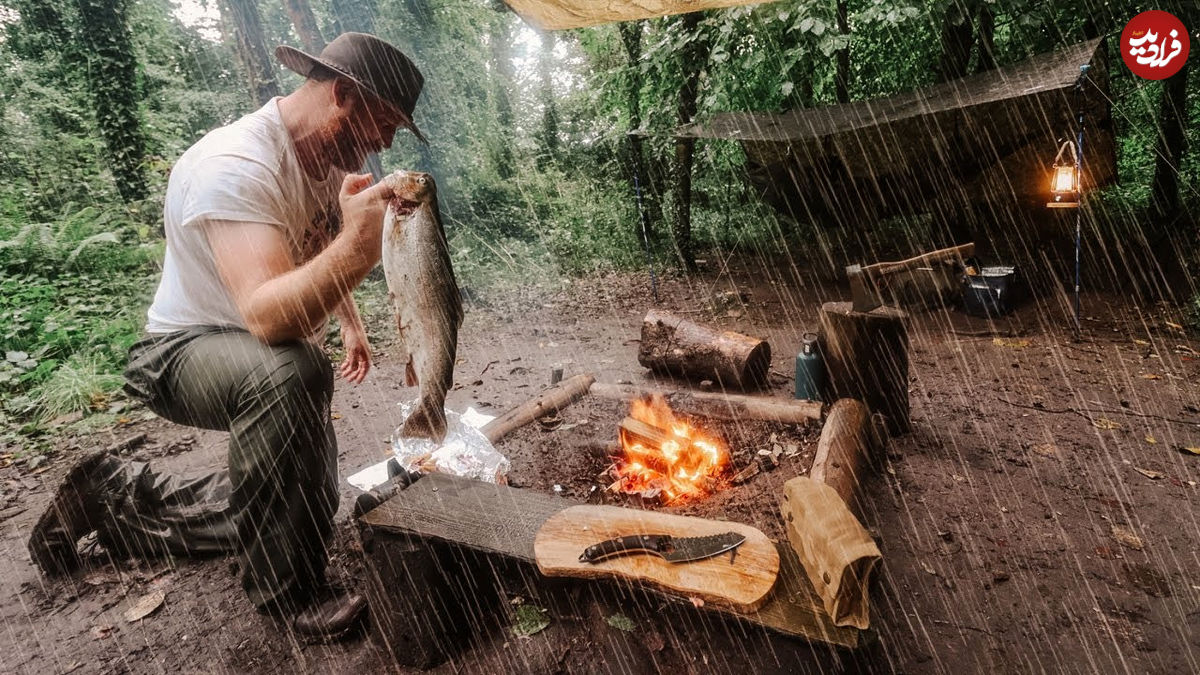
<instances>
[{"instance_id":1,"label":"pale wooden cutting board beneath the black knife","mask_svg":"<svg viewBox=\"0 0 1200 675\"><path fill-rule=\"evenodd\" d=\"M580 562L583 549L614 537L703 537L730 531L746 537L733 565L727 552L692 562L667 562L653 554L618 556L594 565ZM636 580L746 613L767 602L779 574L775 544L749 525L611 506L575 506L558 512L538 531L533 550L538 568L547 577Z\"/></svg>"}]
</instances>

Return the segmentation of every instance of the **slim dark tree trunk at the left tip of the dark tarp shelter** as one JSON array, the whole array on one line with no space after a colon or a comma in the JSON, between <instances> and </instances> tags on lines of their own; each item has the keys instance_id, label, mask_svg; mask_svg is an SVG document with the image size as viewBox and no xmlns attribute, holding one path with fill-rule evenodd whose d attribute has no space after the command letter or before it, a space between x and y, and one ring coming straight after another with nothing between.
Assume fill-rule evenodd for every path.
<instances>
[{"instance_id":1,"label":"slim dark tree trunk at the left tip of the dark tarp shelter","mask_svg":"<svg viewBox=\"0 0 1200 675\"><path fill-rule=\"evenodd\" d=\"M700 74L708 60L708 42L698 35L701 14L684 14L682 31L694 35L694 38L680 49L680 71L683 86L679 89L678 126L690 124L696 117L696 102L700 97ZM676 255L684 269L696 271L696 255L691 241L691 163L696 148L695 138L677 138L674 151L674 247Z\"/></svg>"}]
</instances>

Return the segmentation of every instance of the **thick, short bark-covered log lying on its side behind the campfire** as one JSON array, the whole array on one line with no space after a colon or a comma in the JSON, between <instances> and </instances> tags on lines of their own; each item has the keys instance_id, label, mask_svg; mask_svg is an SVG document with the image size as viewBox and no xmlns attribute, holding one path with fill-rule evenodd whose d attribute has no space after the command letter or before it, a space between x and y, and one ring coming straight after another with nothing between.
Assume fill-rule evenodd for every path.
<instances>
[{"instance_id":1,"label":"thick, short bark-covered log lying on its side behind the campfire","mask_svg":"<svg viewBox=\"0 0 1200 675\"><path fill-rule=\"evenodd\" d=\"M770 345L662 310L650 310L642 319L637 363L676 377L714 380L734 389L757 389L767 383Z\"/></svg>"}]
</instances>

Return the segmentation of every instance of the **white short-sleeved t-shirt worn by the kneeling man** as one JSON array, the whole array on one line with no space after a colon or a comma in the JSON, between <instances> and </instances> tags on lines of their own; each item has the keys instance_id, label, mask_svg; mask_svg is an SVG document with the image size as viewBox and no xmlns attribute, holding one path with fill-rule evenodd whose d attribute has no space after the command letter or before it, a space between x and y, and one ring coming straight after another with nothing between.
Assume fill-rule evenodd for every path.
<instances>
[{"instance_id":1,"label":"white short-sleeved t-shirt worn by the kneeling man","mask_svg":"<svg viewBox=\"0 0 1200 675\"><path fill-rule=\"evenodd\" d=\"M292 259L299 265L340 227L337 193L343 175L332 171L317 181L305 174L280 117L278 98L188 148L167 183L167 256L146 312L146 333L200 325L246 328L217 273L205 228L274 225L287 235Z\"/></svg>"}]
</instances>

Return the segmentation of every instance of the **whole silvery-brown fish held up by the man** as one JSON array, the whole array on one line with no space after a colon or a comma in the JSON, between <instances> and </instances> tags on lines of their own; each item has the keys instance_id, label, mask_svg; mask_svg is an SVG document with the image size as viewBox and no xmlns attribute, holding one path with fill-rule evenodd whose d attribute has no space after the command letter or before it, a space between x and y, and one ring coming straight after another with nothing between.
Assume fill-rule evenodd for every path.
<instances>
[{"instance_id":1,"label":"whole silvery-brown fish held up by the man","mask_svg":"<svg viewBox=\"0 0 1200 675\"><path fill-rule=\"evenodd\" d=\"M396 311L404 381L420 387L420 402L400 436L445 440L445 398L454 382L462 299L450 267L438 189L427 173L397 171L384 180L395 197L383 225L383 271Z\"/></svg>"}]
</instances>

